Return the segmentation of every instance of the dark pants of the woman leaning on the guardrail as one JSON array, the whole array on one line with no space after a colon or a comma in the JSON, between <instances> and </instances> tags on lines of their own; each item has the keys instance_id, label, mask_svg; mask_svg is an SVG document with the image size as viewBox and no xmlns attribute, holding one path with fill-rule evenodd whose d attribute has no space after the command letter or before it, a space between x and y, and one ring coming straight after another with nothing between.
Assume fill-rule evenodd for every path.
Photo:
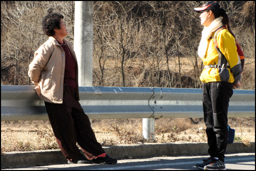
<instances>
[{"instance_id":1,"label":"dark pants of the woman leaning on the guardrail","mask_svg":"<svg viewBox=\"0 0 256 171\"><path fill-rule=\"evenodd\" d=\"M88 116L75 99L74 88L64 86L62 104L45 102L45 105L59 148L67 160L82 157L76 142L89 160L105 153L96 140Z\"/></svg>"}]
</instances>

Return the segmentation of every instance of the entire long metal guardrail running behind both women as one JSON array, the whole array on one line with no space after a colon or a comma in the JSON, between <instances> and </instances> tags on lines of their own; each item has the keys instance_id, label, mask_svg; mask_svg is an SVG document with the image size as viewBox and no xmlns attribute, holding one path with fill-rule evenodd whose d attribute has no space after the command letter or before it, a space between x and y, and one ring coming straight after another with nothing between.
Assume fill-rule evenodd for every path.
<instances>
[{"instance_id":1,"label":"entire long metal guardrail running behind both women","mask_svg":"<svg viewBox=\"0 0 256 171\"><path fill-rule=\"evenodd\" d=\"M203 117L202 89L79 87L90 119ZM228 117L255 117L255 91L234 90ZM34 86L1 85L1 121L47 120Z\"/></svg>"}]
</instances>

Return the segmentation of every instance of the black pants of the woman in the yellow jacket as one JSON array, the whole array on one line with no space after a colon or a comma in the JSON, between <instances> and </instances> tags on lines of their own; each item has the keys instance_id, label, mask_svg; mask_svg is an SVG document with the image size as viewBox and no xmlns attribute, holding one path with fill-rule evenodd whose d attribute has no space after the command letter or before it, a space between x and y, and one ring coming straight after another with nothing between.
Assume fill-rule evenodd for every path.
<instances>
[{"instance_id":1,"label":"black pants of the woman in the yellow jacket","mask_svg":"<svg viewBox=\"0 0 256 171\"><path fill-rule=\"evenodd\" d=\"M227 111L229 99L233 94L233 84L228 82L211 82L203 85L203 110L208 153L224 162L227 149Z\"/></svg>"}]
</instances>

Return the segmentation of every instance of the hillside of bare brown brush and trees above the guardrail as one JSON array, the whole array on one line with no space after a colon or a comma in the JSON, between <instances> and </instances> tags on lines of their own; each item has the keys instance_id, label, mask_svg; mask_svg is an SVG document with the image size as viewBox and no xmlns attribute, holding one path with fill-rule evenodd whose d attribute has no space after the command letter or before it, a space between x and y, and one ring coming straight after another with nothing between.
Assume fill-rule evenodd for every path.
<instances>
[{"instance_id":1,"label":"hillside of bare brown brush and trees above the guardrail","mask_svg":"<svg viewBox=\"0 0 256 171\"><path fill-rule=\"evenodd\" d=\"M219 2L245 52L242 89L255 89L255 2ZM197 48L203 2L94 2L93 86L201 88ZM65 16L73 42L75 2L1 2L1 84L32 85L27 75L48 37L41 19Z\"/></svg>"}]
</instances>

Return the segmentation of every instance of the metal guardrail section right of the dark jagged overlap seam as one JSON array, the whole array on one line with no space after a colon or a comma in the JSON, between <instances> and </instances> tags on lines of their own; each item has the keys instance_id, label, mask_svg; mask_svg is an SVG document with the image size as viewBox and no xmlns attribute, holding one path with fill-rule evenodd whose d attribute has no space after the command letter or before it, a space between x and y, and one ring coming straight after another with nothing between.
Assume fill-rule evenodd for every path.
<instances>
[{"instance_id":1,"label":"metal guardrail section right of the dark jagged overlap seam","mask_svg":"<svg viewBox=\"0 0 256 171\"><path fill-rule=\"evenodd\" d=\"M203 117L202 89L153 88L156 118ZM154 101L155 100L155 101ZM255 91L233 90L229 101L228 117L255 117Z\"/></svg>"}]
</instances>

